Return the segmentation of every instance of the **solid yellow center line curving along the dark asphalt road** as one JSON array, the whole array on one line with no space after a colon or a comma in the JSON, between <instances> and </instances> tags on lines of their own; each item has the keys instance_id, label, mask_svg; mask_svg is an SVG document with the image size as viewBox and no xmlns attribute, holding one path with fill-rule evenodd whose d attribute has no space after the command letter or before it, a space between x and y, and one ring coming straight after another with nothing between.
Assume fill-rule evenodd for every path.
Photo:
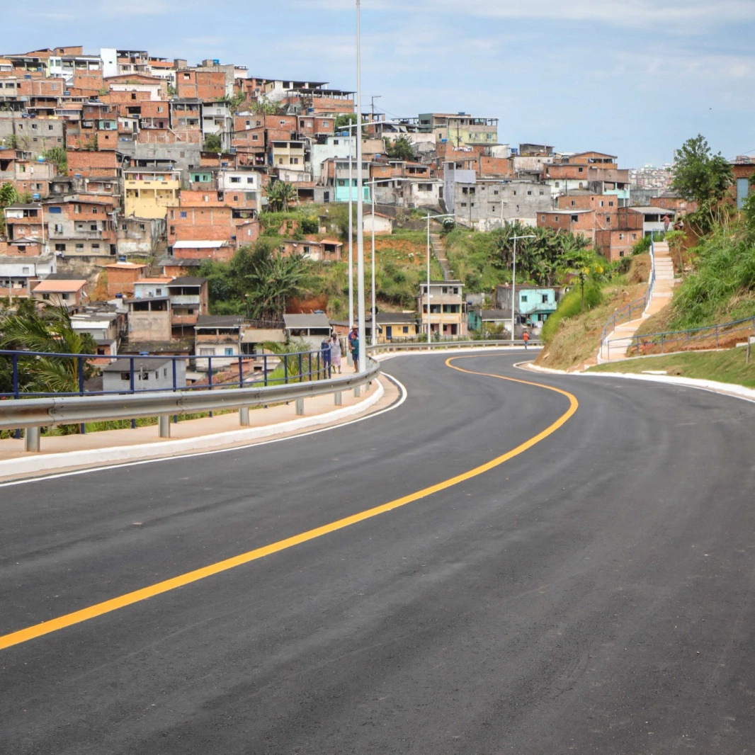
<instances>
[{"instance_id":1,"label":"solid yellow center line curving along the dark asphalt road","mask_svg":"<svg viewBox=\"0 0 755 755\"><path fill-rule=\"evenodd\" d=\"M419 501L421 498L427 498L428 495L433 495L433 493L446 490L447 488L451 488L454 485L458 485L460 482L472 479L473 477L488 472L488 470L492 470L495 467L498 467L500 464L504 464L505 461L509 461L509 459L524 453L524 451L532 448L532 446L536 443L541 442L541 440L547 438L547 436L555 433L556 430L558 430L559 427L565 424L565 422L569 420L570 417L572 417L575 411L577 411L578 402L576 397L573 396L572 393L568 393L565 390L560 390L559 388L554 388L548 385L532 383L525 380L517 380L514 377L503 377L501 375L491 374L488 372L474 372L471 370L465 370L461 367L457 367L451 364L451 361L455 361L456 359L471 359L471 357L451 357L445 360L445 364L448 365L448 367L461 372L466 372L467 374L476 374L485 377L496 377L499 380L532 385L538 388L543 388L544 390L552 390L555 393L561 393L563 396L566 396L569 399L569 409L565 411L564 414L562 414L555 422L553 422L553 424L550 424L548 427L546 427L545 430L543 430L541 433L532 436L532 438L530 438L529 440L525 440L525 442L517 445L516 448L512 448L511 451L507 451L505 454L497 456L495 459L492 459L485 464L481 464L479 467L474 467L474 469L472 470L456 475L455 477L450 477L442 482L436 483L436 485L430 485L430 487L422 488L422 490L418 490L417 492L405 495L402 498L396 498L394 501L388 501L387 504L381 504L381 506L376 506L365 511L360 511L359 513L353 514L352 516L347 516L344 519L337 519L337 521L335 522L330 522L329 524L322 525L322 527L316 527L315 529L307 530L307 532L300 532L299 535L293 535L291 538L285 538L285 540L279 540L276 543L271 543L270 545L265 545L261 548L255 548L254 550L248 550L246 553L240 553L238 556L233 556L230 559L224 559L223 561L218 561L214 564L203 566L201 569L195 569L193 572L186 572L185 574L178 575L177 577L166 579L165 581L157 582L156 584L151 584L148 587L142 587L140 590L134 590L131 593L125 593L125 595L120 595L116 598L111 598L100 603L95 603L94 606L88 606L88 608L81 609L80 611L74 611L72 613L59 616L49 621L43 621L41 624L35 624L32 627L26 627L25 629L20 629L9 634L5 634L3 636L0 636L0 650L9 648L14 645L19 645L20 643L29 642L30 639L36 639L37 637L41 637L45 634L57 632L58 630L65 629L66 627L71 627L73 624L80 624L82 623L82 621L89 621L92 618L102 616L103 614L112 611L117 611L119 609L125 608L126 606L132 606L134 605L134 603L146 600L148 598L153 598L154 596L160 595L162 593L168 593L171 590L176 590L178 587L184 587L187 584L192 584L193 582L197 582L201 579L220 574L220 572L227 572L229 569L236 569L237 566L242 566L244 564L248 564L251 561L256 561L257 559L262 559L265 556L270 556L273 553L279 553L281 550L286 550L287 548L294 547L295 545L300 545L301 543L306 543L307 541L321 538L323 535L328 535L331 532L336 532L339 529L350 527L351 525L357 524L358 522L364 522L365 519L371 519L373 516L378 516L379 514L386 513L387 511L392 511L399 507L405 506L406 504L411 504L414 501Z\"/></svg>"}]
</instances>

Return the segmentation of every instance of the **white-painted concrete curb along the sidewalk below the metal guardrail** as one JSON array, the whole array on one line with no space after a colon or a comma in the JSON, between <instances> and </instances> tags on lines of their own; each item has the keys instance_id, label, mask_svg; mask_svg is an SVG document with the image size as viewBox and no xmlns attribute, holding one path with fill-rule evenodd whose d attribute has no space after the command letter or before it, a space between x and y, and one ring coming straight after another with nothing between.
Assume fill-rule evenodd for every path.
<instances>
[{"instance_id":1,"label":"white-painted concrete curb along the sidewalk below the metal guardrail","mask_svg":"<svg viewBox=\"0 0 755 755\"><path fill-rule=\"evenodd\" d=\"M146 459L182 455L193 451L212 451L229 445L250 443L284 433L322 427L322 425L340 422L356 414L361 414L365 409L380 401L385 390L380 380L375 382L377 388L363 401L353 406L327 411L325 414L314 414L312 417L300 417L295 420L264 425L263 427L248 427L243 430L231 430L226 433L214 433L196 438L181 438L111 448L88 448L85 451L66 451L65 453L6 459L0 461L0 479L11 475L57 472L71 467L89 467L120 461L144 461Z\"/></svg>"}]
</instances>

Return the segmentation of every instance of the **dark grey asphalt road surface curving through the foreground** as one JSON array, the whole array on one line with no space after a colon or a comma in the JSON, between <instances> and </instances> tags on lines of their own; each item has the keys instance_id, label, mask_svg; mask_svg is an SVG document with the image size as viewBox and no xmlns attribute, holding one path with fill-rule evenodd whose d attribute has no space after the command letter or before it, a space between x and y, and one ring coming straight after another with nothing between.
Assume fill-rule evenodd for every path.
<instances>
[{"instance_id":1,"label":"dark grey asphalt road surface curving through the foreground","mask_svg":"<svg viewBox=\"0 0 755 755\"><path fill-rule=\"evenodd\" d=\"M460 475L569 399L385 368L396 411L0 486L0 635ZM0 650L0 752L755 753L755 405L607 378L529 450Z\"/></svg>"}]
</instances>

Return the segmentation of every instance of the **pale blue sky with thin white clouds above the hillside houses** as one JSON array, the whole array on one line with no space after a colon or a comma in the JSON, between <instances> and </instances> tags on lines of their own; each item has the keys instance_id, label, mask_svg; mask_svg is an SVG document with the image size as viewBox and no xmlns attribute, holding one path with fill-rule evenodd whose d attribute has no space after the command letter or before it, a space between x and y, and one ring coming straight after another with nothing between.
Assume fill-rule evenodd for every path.
<instances>
[{"instance_id":1,"label":"pale blue sky with thin white clouds above the hillside houses","mask_svg":"<svg viewBox=\"0 0 755 755\"><path fill-rule=\"evenodd\" d=\"M467 7L469 6L469 7ZM356 89L356 0L37 0L7 53L63 45ZM498 118L498 140L673 162L697 134L755 154L755 0L362 0L362 109Z\"/></svg>"}]
</instances>

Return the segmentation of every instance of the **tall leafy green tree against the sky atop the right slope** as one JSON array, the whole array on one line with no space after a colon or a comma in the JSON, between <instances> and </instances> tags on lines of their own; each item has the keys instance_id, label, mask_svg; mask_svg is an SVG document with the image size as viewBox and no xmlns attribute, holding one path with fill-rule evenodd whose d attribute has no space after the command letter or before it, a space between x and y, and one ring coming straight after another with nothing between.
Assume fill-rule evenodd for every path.
<instances>
[{"instance_id":1,"label":"tall leafy green tree against the sky atop the right slope","mask_svg":"<svg viewBox=\"0 0 755 755\"><path fill-rule=\"evenodd\" d=\"M713 155L702 134L686 140L673 153L674 177L671 188L683 199L698 203L698 212L713 222L720 219L720 203L734 183L732 166L721 153Z\"/></svg>"}]
</instances>

